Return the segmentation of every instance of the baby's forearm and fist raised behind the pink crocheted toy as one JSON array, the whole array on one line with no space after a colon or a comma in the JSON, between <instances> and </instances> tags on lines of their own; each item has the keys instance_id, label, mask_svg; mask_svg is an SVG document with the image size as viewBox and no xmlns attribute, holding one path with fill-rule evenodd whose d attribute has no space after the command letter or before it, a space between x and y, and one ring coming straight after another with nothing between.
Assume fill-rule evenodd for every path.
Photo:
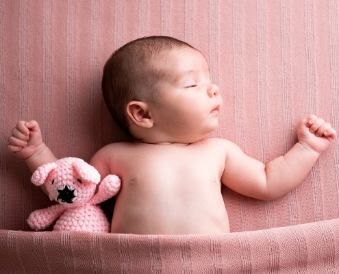
<instances>
[{"instance_id":1,"label":"baby's forearm and fist raised behind the pink crocheted toy","mask_svg":"<svg viewBox=\"0 0 339 274\"><path fill-rule=\"evenodd\" d=\"M42 142L40 127L33 120L20 121L16 124L16 127L12 129L12 135L8 137L7 150L17 158L25 160L32 173L42 164L57 160L51 150ZM45 185L42 185L41 188L48 195Z\"/></svg>"}]
</instances>

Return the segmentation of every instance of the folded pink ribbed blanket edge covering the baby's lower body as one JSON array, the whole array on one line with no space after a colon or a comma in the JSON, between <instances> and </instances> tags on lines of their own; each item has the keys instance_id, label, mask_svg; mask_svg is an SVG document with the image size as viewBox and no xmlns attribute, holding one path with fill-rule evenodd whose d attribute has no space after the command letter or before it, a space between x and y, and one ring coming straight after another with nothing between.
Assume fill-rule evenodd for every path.
<instances>
[{"instance_id":1,"label":"folded pink ribbed blanket edge covering the baby's lower body","mask_svg":"<svg viewBox=\"0 0 339 274\"><path fill-rule=\"evenodd\" d=\"M0 231L0 273L337 273L339 219L218 235Z\"/></svg>"}]
</instances>

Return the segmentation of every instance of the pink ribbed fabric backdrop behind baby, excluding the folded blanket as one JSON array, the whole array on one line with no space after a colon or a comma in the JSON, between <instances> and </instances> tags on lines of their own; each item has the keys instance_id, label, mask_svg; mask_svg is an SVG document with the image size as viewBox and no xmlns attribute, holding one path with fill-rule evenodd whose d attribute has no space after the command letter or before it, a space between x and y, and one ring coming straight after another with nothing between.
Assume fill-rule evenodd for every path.
<instances>
[{"instance_id":1,"label":"pink ribbed fabric backdrop behind baby, excluding the folded blanket","mask_svg":"<svg viewBox=\"0 0 339 274\"><path fill-rule=\"evenodd\" d=\"M224 100L211 137L266 163L292 147L311 113L339 132L337 0L0 0L0 229L29 231L29 213L51 205L5 152L12 127L36 119L58 158L88 161L126 140L103 103L101 71L114 49L151 35L185 40L207 58ZM338 219L338 190L337 141L284 197L227 188L223 197L231 231L241 232Z\"/></svg>"}]
</instances>

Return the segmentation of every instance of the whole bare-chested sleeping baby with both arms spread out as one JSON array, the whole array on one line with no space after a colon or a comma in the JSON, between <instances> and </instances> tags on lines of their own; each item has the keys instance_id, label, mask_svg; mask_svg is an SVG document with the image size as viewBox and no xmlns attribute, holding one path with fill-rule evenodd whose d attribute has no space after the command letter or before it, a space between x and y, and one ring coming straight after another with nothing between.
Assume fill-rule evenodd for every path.
<instances>
[{"instance_id":1,"label":"whole bare-chested sleeping baby with both arms spread out","mask_svg":"<svg viewBox=\"0 0 339 274\"><path fill-rule=\"evenodd\" d=\"M223 110L219 88L203 54L171 37L139 38L116 50L102 90L114 121L135 139L107 145L90 160L101 178L115 174L122 182L113 233L229 232L221 184L255 199L281 197L336 138L329 123L310 115L299 124L299 142L266 165L229 140L205 138ZM32 172L57 160L36 121L18 122L8 151Z\"/></svg>"}]
</instances>

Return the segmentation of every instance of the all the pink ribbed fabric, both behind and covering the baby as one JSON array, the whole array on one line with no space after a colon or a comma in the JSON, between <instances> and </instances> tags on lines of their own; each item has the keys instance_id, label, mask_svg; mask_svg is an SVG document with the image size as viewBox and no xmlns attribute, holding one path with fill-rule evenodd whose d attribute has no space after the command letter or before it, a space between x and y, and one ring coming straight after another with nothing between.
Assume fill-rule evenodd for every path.
<instances>
[{"instance_id":1,"label":"all the pink ribbed fabric, both behind and covering the baby","mask_svg":"<svg viewBox=\"0 0 339 274\"><path fill-rule=\"evenodd\" d=\"M127 140L103 103L101 71L114 49L150 35L207 58L225 105L210 137L266 163L292 147L310 113L339 130L337 0L0 0L0 273L339 272L338 141L284 197L223 188L234 234L29 231L29 213L51 203L5 152L12 127L36 119L58 158L88 161Z\"/></svg>"}]
</instances>

